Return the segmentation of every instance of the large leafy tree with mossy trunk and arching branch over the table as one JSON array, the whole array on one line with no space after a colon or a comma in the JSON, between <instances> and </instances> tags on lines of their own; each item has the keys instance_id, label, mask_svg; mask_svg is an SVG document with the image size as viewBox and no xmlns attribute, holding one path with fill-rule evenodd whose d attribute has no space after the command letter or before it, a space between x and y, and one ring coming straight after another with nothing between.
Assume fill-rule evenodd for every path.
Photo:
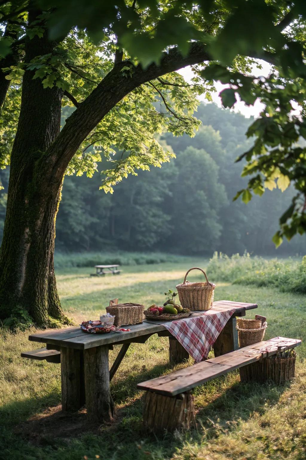
<instances>
[{"instance_id":1,"label":"large leafy tree with mossy trunk and arching branch over the table","mask_svg":"<svg viewBox=\"0 0 306 460\"><path fill-rule=\"evenodd\" d=\"M275 242L305 231L305 151L296 145L306 126L305 15L302 0L1 0L0 166L10 164L10 180L0 318L68 321L53 267L64 175L91 176L102 154L112 163L101 187L112 191L128 173L169 161L154 134L193 135L196 96L210 98L214 80L228 83L224 106L237 95L265 103L248 132L256 140L244 173L253 177L239 195L248 201L276 179L283 188L293 182ZM267 78L252 77L257 59L273 66ZM191 86L177 73L188 65ZM61 128L67 104L75 110ZM114 162L115 149L122 158Z\"/></svg>"}]
</instances>

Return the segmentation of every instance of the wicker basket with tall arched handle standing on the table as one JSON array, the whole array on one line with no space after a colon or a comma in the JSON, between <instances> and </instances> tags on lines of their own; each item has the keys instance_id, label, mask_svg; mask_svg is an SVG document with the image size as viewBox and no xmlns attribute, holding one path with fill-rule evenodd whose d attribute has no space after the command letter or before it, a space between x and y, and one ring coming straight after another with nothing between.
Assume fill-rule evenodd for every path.
<instances>
[{"instance_id":1,"label":"wicker basket with tall arched handle standing on the table","mask_svg":"<svg viewBox=\"0 0 306 460\"><path fill-rule=\"evenodd\" d=\"M186 281L187 275L191 270L200 270L204 273L206 282L190 283ZM184 278L184 282L177 285L178 297L184 308L193 311L210 310L213 302L214 289L216 285L210 283L206 273L199 267L190 268Z\"/></svg>"}]
</instances>

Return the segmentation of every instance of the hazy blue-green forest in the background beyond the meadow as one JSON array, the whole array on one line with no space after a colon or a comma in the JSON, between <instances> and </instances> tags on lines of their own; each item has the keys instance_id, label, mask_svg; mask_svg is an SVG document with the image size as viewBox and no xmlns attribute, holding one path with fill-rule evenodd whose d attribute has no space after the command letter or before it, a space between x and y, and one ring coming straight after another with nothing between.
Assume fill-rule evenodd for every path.
<instances>
[{"instance_id":1,"label":"hazy blue-green forest in the background beyond the meadow","mask_svg":"<svg viewBox=\"0 0 306 460\"><path fill-rule=\"evenodd\" d=\"M67 109L71 110L64 108L63 118ZM247 183L240 177L243 164L235 159L252 142L245 137L252 119L203 103L196 116L202 125L194 138L165 133L160 139L176 158L150 172L140 170L138 177L128 176L112 195L99 190L100 173L93 178L66 176L56 220L56 251L305 254L305 235L284 241L278 249L272 242L278 218L294 195L290 187L284 192L267 190L248 205L233 202ZM99 171L106 168L109 163L98 163ZM0 238L8 174L0 171L5 186L0 195Z\"/></svg>"}]
</instances>

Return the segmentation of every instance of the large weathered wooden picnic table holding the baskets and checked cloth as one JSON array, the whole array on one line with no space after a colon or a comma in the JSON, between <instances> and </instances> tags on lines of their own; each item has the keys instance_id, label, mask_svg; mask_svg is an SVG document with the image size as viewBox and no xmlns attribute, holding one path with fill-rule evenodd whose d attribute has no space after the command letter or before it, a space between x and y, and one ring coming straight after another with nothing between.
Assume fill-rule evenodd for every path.
<instances>
[{"instance_id":1,"label":"large weathered wooden picnic table holding the baskets and checked cloth","mask_svg":"<svg viewBox=\"0 0 306 460\"><path fill-rule=\"evenodd\" d=\"M235 312L217 337L213 346L215 356L238 348L235 317L245 316L246 310L257 308L257 305L221 300L213 303L212 311L225 311L229 308L234 308ZM29 335L29 340L45 343L47 349L61 352L63 411L76 411L86 403L89 420L111 420L114 404L110 380L131 343L145 343L151 335L158 334L160 337L169 337L169 357L172 363L189 357L182 345L163 326L163 322L144 321L128 328L128 332L108 334L86 334L78 327L52 329ZM109 349L120 344L122 348L109 370Z\"/></svg>"}]
</instances>

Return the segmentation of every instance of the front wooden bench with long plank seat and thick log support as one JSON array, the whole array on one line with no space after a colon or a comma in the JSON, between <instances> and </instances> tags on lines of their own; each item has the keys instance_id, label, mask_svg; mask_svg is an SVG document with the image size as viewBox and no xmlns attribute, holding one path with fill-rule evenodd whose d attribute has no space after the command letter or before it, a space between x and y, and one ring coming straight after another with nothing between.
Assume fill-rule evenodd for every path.
<instances>
[{"instance_id":1,"label":"front wooden bench with long plank seat and thick log support","mask_svg":"<svg viewBox=\"0 0 306 460\"><path fill-rule=\"evenodd\" d=\"M249 345L216 358L207 359L171 374L139 383L146 390L144 424L156 433L189 428L195 420L194 397L190 390L234 369L289 350L301 340L276 337Z\"/></svg>"}]
</instances>

